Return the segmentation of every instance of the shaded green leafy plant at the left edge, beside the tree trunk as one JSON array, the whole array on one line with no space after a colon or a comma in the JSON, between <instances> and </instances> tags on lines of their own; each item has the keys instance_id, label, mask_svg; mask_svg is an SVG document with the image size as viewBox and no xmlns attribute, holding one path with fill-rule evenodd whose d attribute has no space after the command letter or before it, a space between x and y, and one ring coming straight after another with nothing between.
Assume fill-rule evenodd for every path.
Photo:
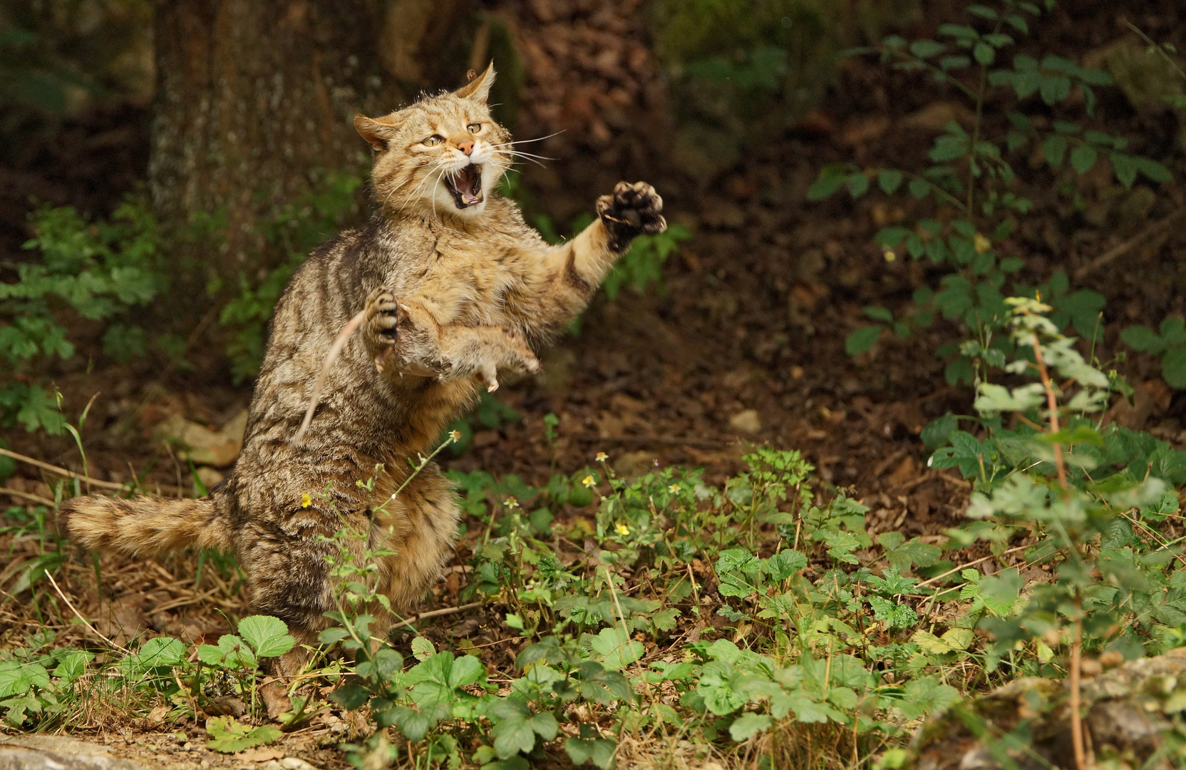
<instances>
[{"instance_id":1,"label":"shaded green leafy plant at the left edge, beside the tree trunk","mask_svg":"<svg viewBox=\"0 0 1186 770\"><path fill-rule=\"evenodd\" d=\"M7 364L0 374L0 426L19 422L57 435L66 421L40 373L49 358L76 354L59 322L69 316L104 322L107 355L117 361L142 356L148 333L132 319L132 310L160 295L168 281L157 223L144 198L129 198L106 222L89 223L72 206L43 208L31 219L36 235L25 248L42 259L5 266L15 280L0 282L0 357ZM166 354L184 344L176 335L153 342Z\"/></svg>"}]
</instances>

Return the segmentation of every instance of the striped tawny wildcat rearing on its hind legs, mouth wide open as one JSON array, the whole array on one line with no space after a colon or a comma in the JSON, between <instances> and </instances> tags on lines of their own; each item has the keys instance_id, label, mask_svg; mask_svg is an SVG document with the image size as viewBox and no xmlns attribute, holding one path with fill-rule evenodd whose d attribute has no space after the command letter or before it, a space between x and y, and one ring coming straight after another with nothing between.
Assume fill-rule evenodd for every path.
<instances>
[{"instance_id":1,"label":"striped tawny wildcat rearing on its hind legs, mouth wide open","mask_svg":"<svg viewBox=\"0 0 1186 770\"><path fill-rule=\"evenodd\" d=\"M380 210L318 247L276 304L234 471L203 499L66 501L58 517L74 542L133 555L232 551L251 610L286 621L304 643L337 609L326 565L336 547L324 537L345 524L370 533L350 541L356 552L396 552L378 565L393 609L425 593L452 548L458 507L432 464L393 498L408 458L431 451L483 383L496 388L499 368L537 370L536 352L631 238L665 228L650 185L619 183L598 198L595 222L548 246L492 192L512 155L486 106L493 78L490 66L453 94L355 119L375 151ZM326 350L361 310L362 332L294 445ZM356 484L372 476L372 489Z\"/></svg>"}]
</instances>

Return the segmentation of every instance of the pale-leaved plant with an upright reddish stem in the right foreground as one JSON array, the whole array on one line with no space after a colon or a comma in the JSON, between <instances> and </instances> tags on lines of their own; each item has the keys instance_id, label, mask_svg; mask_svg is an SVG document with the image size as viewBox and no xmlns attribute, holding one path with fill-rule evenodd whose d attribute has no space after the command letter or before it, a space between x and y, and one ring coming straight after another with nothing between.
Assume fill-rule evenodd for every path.
<instances>
[{"instance_id":1,"label":"pale-leaved plant with an upright reddish stem in the right foreground","mask_svg":"<svg viewBox=\"0 0 1186 770\"><path fill-rule=\"evenodd\" d=\"M1052 308L1009 298L1018 354L1002 368L1009 386L981 382L975 407L984 440L955 428L932 467L958 467L975 481L967 516L950 530L956 545L975 540L1001 554L1025 539L1027 566L1050 572L1027 581L1019 569L962 577L974 600L967 619L994 643L986 670L1070 679L1075 750L1084 756L1079 673L1084 653L1126 658L1179 647L1186 623L1186 569L1161 534L1177 517L1173 485L1186 482L1186 452L1144 433L1102 425L1112 394L1123 392L1060 333ZM1018 378L1026 381L1016 384ZM1006 427L1012 414L1015 427ZM1013 738L1016 738L1014 736Z\"/></svg>"}]
</instances>

